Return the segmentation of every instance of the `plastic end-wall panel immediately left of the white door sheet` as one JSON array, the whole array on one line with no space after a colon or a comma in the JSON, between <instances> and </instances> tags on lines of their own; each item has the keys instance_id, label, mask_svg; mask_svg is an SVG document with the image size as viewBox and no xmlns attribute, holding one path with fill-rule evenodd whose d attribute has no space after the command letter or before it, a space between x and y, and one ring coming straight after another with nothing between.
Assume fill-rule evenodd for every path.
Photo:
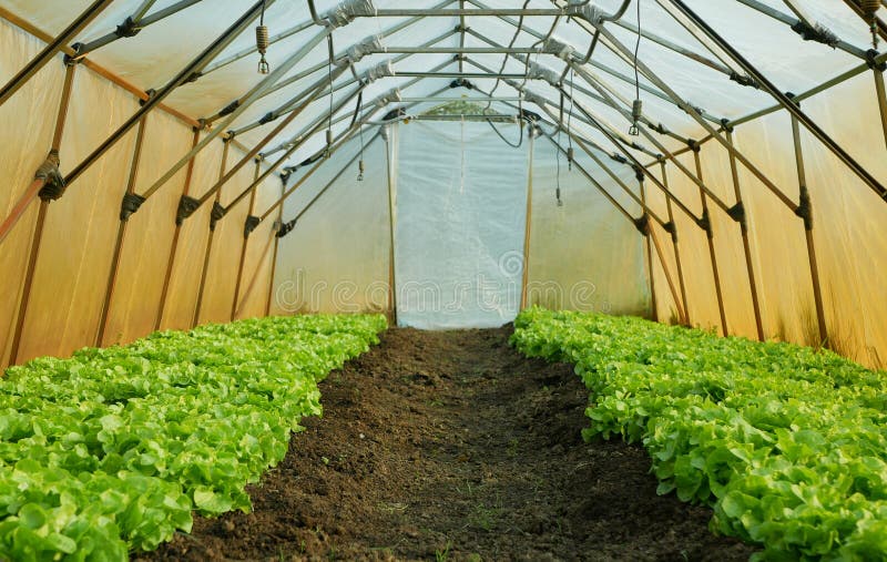
<instances>
[{"instance_id":1,"label":"plastic end-wall panel immediately left of the white door sheet","mask_svg":"<svg viewBox=\"0 0 887 562\"><path fill-rule=\"evenodd\" d=\"M355 139L329 160L319 161L317 172L287 198L283 221L299 213L302 217L279 243L274 314L388 309L390 222L385 150L380 137L365 136L366 173L360 182L357 162L351 162L360 153L359 139ZM308 170L293 173L288 188Z\"/></svg>"}]
</instances>

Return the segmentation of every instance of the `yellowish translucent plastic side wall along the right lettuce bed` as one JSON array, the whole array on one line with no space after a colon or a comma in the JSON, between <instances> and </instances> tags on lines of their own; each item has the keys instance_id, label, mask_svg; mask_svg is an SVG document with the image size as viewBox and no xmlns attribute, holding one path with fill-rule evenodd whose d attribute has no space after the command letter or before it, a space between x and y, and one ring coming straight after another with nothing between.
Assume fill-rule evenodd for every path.
<instances>
[{"instance_id":1,"label":"yellowish translucent plastic side wall along the right lettuce bed","mask_svg":"<svg viewBox=\"0 0 887 562\"><path fill-rule=\"evenodd\" d=\"M884 135L870 73L859 75L804 103L838 142L876 177L887 178ZM847 104L852 100L852 105ZM884 366L887 350L887 293L879 283L887 258L887 205L853 176L818 141L801 131L804 170L814 210L813 242L822 284L829 347L870 366ZM776 186L797 202L798 168L792 122L785 112L741 125L736 147ZM680 156L695 171L692 153ZM706 186L730 205L735 203L727 151L715 141L700 153ZM653 167L661 176L659 167ZM700 190L674 165L666 166L670 186L695 213L701 213ZM812 266L803 221L785 206L752 172L738 164L740 190L748 217L752 270L765 338L818 345L820 335L813 290ZM654 211L666 214L664 196L648 186ZM710 202L714 244L727 331L757 337L748 268L740 226ZM673 205L679 251L693 325L723 331L712 260L705 233ZM670 237L655 227L665 249L666 266L677 283ZM654 268L657 313L676 316L674 299L661 267Z\"/></svg>"}]
</instances>

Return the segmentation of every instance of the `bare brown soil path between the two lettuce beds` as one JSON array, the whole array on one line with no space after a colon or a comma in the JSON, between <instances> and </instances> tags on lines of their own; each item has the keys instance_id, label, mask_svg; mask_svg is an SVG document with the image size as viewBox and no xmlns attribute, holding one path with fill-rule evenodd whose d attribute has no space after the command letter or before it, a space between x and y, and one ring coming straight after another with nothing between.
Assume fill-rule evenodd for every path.
<instances>
[{"instance_id":1,"label":"bare brown soil path between the two lettuce beds","mask_svg":"<svg viewBox=\"0 0 887 562\"><path fill-rule=\"evenodd\" d=\"M251 514L196 518L141 559L748 559L711 510L656 495L643 449L583 442L581 380L510 333L389 330L320 385L324 417L249 489Z\"/></svg>"}]
</instances>

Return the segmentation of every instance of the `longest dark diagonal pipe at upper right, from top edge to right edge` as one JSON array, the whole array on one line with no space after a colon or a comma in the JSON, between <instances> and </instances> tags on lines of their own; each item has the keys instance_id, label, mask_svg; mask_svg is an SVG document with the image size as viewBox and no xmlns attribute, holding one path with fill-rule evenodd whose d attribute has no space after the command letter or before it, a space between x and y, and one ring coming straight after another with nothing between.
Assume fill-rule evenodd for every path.
<instances>
[{"instance_id":1,"label":"longest dark diagonal pipe at upper right, from top edge to right edge","mask_svg":"<svg viewBox=\"0 0 887 562\"><path fill-rule=\"evenodd\" d=\"M879 197L887 200L887 188L878 182L856 159L844 150L832 136L828 135L819 125L810 119L801 106L785 95L773 82L761 73L751 62L740 54L730 42L725 41L717 32L691 10L683 0L667 0L672 2L682 13L690 18L708 38L711 38L721 49L726 51L750 75L757 80L771 95L773 95L788 112L795 116L816 139L819 140L833 154L850 168L860 180L863 180Z\"/></svg>"}]
</instances>

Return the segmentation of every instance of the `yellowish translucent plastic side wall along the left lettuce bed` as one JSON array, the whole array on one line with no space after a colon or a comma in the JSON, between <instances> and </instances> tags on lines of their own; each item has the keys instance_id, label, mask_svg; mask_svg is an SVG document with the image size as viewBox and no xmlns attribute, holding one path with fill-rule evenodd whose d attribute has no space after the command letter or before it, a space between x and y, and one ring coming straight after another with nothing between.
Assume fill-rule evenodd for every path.
<instances>
[{"instance_id":1,"label":"yellowish translucent plastic side wall along the left lettuce bed","mask_svg":"<svg viewBox=\"0 0 887 562\"><path fill-rule=\"evenodd\" d=\"M0 20L0 75L14 74L43 47L18 28ZM0 191L4 217L21 200L34 171L49 152L59 114L64 65L53 61L22 91L0 106L0 170L7 188ZM70 171L101 144L139 108L139 100L84 65L74 70L72 94L61 137L61 170ZM162 111L145 120L145 134L135 170L135 193L144 192L191 147L190 125ZM200 278L208 241L208 213L204 205L185 221L169 279L167 298L160 302L174 235L175 211L183 193L186 167L174 175L134 214L125 229L120 264L109 299L104 337L98 340L102 308L108 294L112 256L120 225L121 198L134 161L136 129L68 186L65 194L47 210L45 225L31 290L23 309L23 280L30 256L39 200L32 202L0 246L0 366L11 361L17 320L23 317L18 361L42 355L69 355L95 345L128 343L151 333L161 317L161 328L188 328L200 293ZM215 142L195 160L190 190L202 195L218 178L223 143ZM233 164L244 156L236 147ZM222 190L230 203L253 181L251 162ZM255 190L255 206L269 205L279 195L272 177ZM232 207L218 223L210 255L198 323L227 321L265 314L271 283L273 219L251 236L245 254L241 292L235 303L244 222L251 198Z\"/></svg>"}]
</instances>

